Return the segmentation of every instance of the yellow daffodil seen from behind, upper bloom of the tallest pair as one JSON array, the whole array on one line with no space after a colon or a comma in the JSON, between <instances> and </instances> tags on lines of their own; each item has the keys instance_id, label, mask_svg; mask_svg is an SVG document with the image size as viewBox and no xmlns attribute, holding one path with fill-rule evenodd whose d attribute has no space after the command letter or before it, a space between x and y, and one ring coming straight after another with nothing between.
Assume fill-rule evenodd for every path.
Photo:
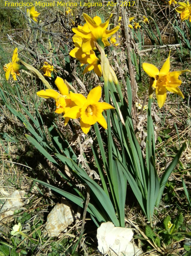
<instances>
[{"instance_id":1,"label":"yellow daffodil seen from behind, upper bloom of the tallest pair","mask_svg":"<svg viewBox=\"0 0 191 256\"><path fill-rule=\"evenodd\" d=\"M104 43L104 46L110 46L110 43L108 42L107 38L115 34L117 30L120 28L119 26L113 28L112 30L107 30L107 27L109 25L110 18L105 22L102 23L101 18L98 16L95 16L93 19L87 15L86 13L83 13L84 19L86 20L86 24L88 25L88 29L86 27L86 30L80 28L73 28L73 32L80 36L83 39L82 42L82 51L84 53L89 52L90 50L95 48L95 42L101 40Z\"/></svg>"}]
</instances>

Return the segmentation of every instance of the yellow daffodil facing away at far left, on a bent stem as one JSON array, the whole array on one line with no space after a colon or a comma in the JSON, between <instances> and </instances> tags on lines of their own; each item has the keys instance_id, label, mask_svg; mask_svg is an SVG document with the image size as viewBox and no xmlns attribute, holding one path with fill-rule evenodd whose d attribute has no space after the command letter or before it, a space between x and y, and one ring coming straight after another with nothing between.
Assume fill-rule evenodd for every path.
<instances>
[{"instance_id":1,"label":"yellow daffodil facing away at far left, on a bent stem","mask_svg":"<svg viewBox=\"0 0 191 256\"><path fill-rule=\"evenodd\" d=\"M16 74L19 76L19 70L23 67L22 65L16 63L17 61L19 61L18 48L15 48L15 50L13 51L12 62L5 64L3 66L3 70L5 71L5 77L7 81L10 77L10 74L13 76L14 80L17 80Z\"/></svg>"}]
</instances>

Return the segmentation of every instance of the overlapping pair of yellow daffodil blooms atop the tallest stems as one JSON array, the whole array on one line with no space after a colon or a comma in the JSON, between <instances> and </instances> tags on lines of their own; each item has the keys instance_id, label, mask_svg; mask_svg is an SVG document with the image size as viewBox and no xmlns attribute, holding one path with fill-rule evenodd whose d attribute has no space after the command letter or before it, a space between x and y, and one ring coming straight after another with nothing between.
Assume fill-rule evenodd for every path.
<instances>
[{"instance_id":1,"label":"overlapping pair of yellow daffodil blooms atop the tallest stems","mask_svg":"<svg viewBox=\"0 0 191 256\"><path fill-rule=\"evenodd\" d=\"M86 13L83 13L83 15L84 19L86 20L84 26L78 26L78 28L72 29L75 33L73 36L75 48L70 51L70 56L78 59L82 64L88 64L88 66L84 69L83 74L94 69L98 76L102 76L100 59L97 58L94 52L97 50L95 47L95 42L99 44L102 42L104 46L110 46L108 38L115 34L120 27L116 26L112 30L107 30L109 20L112 15L105 23L102 23L101 18L98 16L95 16L92 19ZM113 37L111 40L116 43L115 37Z\"/></svg>"}]
</instances>

